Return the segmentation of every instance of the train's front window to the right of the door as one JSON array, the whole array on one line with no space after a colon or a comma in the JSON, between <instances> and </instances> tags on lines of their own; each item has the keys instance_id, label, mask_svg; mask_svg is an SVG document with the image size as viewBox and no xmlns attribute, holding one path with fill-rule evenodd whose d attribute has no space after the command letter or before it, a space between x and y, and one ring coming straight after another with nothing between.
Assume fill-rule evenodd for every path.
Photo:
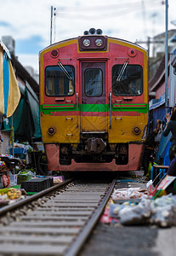
<instances>
[{"instance_id":1,"label":"train's front window to the right of the door","mask_svg":"<svg viewBox=\"0 0 176 256\"><path fill-rule=\"evenodd\" d=\"M112 92L115 96L140 96L143 92L143 69L139 65L112 67Z\"/></svg>"}]
</instances>

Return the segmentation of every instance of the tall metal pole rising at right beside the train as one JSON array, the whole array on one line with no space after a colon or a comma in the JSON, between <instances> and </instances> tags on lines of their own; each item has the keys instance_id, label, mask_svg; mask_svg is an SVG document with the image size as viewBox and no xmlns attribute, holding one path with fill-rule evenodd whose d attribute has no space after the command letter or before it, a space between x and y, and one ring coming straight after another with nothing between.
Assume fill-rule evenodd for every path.
<instances>
[{"instance_id":1,"label":"tall metal pole rising at right beside the train","mask_svg":"<svg viewBox=\"0 0 176 256\"><path fill-rule=\"evenodd\" d=\"M165 113L167 113L167 84L168 84L168 0L166 3L166 32L165 32Z\"/></svg>"}]
</instances>

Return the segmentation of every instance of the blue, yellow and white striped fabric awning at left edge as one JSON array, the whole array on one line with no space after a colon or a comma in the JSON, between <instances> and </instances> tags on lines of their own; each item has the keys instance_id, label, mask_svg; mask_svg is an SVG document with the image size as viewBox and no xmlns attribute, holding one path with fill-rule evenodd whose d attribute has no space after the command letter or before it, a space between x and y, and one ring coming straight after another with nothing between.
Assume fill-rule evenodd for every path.
<instances>
[{"instance_id":1,"label":"blue, yellow and white striped fabric awning at left edge","mask_svg":"<svg viewBox=\"0 0 176 256\"><path fill-rule=\"evenodd\" d=\"M0 41L0 113L10 117L20 102L20 89L10 61L9 50Z\"/></svg>"}]
</instances>

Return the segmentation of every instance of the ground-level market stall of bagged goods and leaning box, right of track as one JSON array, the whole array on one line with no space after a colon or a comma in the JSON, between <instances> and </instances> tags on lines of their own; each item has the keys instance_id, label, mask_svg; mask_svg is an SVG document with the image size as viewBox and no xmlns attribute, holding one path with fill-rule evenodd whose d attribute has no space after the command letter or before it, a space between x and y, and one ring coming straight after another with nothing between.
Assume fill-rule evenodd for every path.
<instances>
[{"instance_id":1,"label":"ground-level market stall of bagged goods and leaning box, right of track","mask_svg":"<svg viewBox=\"0 0 176 256\"><path fill-rule=\"evenodd\" d=\"M103 223L122 225L176 225L176 177L165 177L159 186L115 189L101 218Z\"/></svg>"}]
</instances>

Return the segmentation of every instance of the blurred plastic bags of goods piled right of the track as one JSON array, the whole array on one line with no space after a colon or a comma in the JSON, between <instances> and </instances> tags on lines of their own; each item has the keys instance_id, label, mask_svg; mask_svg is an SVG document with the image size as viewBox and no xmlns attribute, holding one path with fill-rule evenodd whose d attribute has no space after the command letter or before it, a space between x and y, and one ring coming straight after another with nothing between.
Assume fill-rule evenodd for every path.
<instances>
[{"instance_id":1,"label":"blurred plastic bags of goods piled right of the track","mask_svg":"<svg viewBox=\"0 0 176 256\"><path fill-rule=\"evenodd\" d=\"M170 227L176 225L176 195L153 197L147 189L115 189L108 216L116 218L122 225L156 224L162 228Z\"/></svg>"}]
</instances>

